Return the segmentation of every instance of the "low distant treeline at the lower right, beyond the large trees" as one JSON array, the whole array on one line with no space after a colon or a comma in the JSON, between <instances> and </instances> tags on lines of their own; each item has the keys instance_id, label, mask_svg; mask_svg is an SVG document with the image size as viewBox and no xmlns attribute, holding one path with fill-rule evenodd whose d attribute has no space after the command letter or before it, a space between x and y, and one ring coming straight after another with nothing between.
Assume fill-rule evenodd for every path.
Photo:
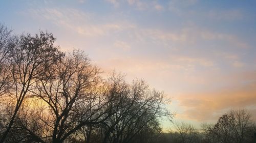
<instances>
[{"instance_id":1,"label":"low distant treeline at the lower right, beyond the large trees","mask_svg":"<svg viewBox=\"0 0 256 143\"><path fill-rule=\"evenodd\" d=\"M256 142L256 125L247 110L230 110L217 123L192 124L174 122L173 130L159 135L163 143L249 143Z\"/></svg>"}]
</instances>

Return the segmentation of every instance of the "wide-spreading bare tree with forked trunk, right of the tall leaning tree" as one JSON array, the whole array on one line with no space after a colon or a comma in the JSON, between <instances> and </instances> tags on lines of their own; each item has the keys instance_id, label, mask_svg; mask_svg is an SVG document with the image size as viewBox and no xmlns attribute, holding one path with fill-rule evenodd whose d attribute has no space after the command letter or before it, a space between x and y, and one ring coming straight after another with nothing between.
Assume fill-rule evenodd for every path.
<instances>
[{"instance_id":1,"label":"wide-spreading bare tree with forked trunk, right of the tall leaning tree","mask_svg":"<svg viewBox=\"0 0 256 143\"><path fill-rule=\"evenodd\" d=\"M49 138L63 142L83 126L101 124L108 118L110 107L104 91L99 69L83 52L73 51L48 68L31 92L46 104L40 120L51 128Z\"/></svg>"}]
</instances>

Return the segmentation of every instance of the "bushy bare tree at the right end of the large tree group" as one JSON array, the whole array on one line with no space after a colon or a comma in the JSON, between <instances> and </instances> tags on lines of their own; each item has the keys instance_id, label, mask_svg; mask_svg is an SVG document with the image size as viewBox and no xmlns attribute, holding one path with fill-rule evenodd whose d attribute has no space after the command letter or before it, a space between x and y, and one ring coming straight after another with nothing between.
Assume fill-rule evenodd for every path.
<instances>
[{"instance_id":1,"label":"bushy bare tree at the right end of the large tree group","mask_svg":"<svg viewBox=\"0 0 256 143\"><path fill-rule=\"evenodd\" d=\"M134 137L154 120L173 116L165 108L163 93L152 91L143 80L127 84L122 76L109 79L113 115L105 121L103 142L134 142Z\"/></svg>"}]
</instances>

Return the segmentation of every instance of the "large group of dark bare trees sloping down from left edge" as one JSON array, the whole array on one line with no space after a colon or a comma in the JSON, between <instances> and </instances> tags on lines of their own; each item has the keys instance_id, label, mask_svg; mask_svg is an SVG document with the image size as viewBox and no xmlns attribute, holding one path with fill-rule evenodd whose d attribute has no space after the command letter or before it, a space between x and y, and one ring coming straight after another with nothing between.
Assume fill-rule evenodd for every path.
<instances>
[{"instance_id":1,"label":"large group of dark bare trees sloping down from left edge","mask_svg":"<svg viewBox=\"0 0 256 143\"><path fill-rule=\"evenodd\" d=\"M103 79L83 51L54 41L0 24L0 142L141 142L173 118L162 92L115 73Z\"/></svg>"}]
</instances>

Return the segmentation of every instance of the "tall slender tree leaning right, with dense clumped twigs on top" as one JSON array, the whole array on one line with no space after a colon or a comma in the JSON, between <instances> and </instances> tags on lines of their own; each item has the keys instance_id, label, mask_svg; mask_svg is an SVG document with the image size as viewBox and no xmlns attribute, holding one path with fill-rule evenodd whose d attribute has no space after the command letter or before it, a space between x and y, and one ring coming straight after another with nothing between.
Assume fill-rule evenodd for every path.
<instances>
[{"instance_id":1,"label":"tall slender tree leaning right, with dense clumped twigs on top","mask_svg":"<svg viewBox=\"0 0 256 143\"><path fill-rule=\"evenodd\" d=\"M9 125L0 142L4 142L6 139L18 110L29 93L31 85L36 82L36 78L45 73L45 67L57 62L63 55L57 47L54 47L54 41L55 38L52 34L40 32L34 37L30 34L20 36L18 43L12 48L9 68L12 69L14 82L14 90L11 95L14 96L16 103Z\"/></svg>"}]
</instances>

